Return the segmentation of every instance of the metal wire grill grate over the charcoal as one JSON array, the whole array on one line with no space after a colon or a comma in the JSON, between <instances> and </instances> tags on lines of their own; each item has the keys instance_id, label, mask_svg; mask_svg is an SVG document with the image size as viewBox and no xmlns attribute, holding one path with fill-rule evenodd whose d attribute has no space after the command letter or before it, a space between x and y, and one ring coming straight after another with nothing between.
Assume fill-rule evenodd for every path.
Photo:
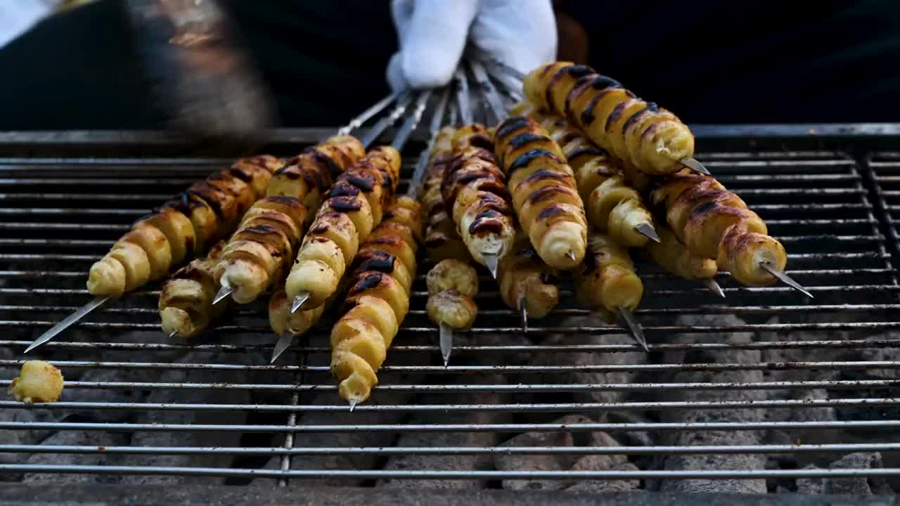
<instances>
[{"instance_id":1,"label":"metal wire grill grate over the charcoal","mask_svg":"<svg viewBox=\"0 0 900 506\"><path fill-rule=\"evenodd\" d=\"M897 474L900 155L699 158L766 219L815 300L720 273L722 300L635 255L645 354L573 305L569 286L522 335L483 276L478 321L445 367L423 263L382 384L349 413L329 374L333 318L270 366L266 297L185 343L159 330L151 286L34 354L60 367L67 389L51 405L0 402L0 475L508 488L618 479L653 490L734 478L765 492ZM88 300L87 268L132 221L230 159L0 159L0 386L31 339ZM884 468L828 465L858 452L880 452Z\"/></svg>"}]
</instances>

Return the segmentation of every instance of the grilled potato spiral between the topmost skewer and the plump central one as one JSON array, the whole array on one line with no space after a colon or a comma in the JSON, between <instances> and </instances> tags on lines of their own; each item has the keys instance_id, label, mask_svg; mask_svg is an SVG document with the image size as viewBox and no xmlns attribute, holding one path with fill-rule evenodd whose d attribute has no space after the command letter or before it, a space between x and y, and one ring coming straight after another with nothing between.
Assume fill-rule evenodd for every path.
<instances>
[{"instance_id":1,"label":"grilled potato spiral between the topmost skewer and the plump central one","mask_svg":"<svg viewBox=\"0 0 900 506\"><path fill-rule=\"evenodd\" d=\"M641 248L650 240L639 227L653 228L653 215L616 160L561 119L545 118L541 125L563 149L584 201L590 224L617 243ZM646 180L644 179L644 184Z\"/></svg>"}]
</instances>

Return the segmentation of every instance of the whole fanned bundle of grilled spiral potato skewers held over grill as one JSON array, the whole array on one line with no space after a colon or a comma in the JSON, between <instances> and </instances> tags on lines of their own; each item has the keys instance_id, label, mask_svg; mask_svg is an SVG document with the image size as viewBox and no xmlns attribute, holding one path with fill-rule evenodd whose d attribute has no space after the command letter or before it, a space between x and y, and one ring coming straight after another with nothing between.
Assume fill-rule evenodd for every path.
<instances>
[{"instance_id":1,"label":"whole fanned bundle of grilled spiral potato skewers held over grill","mask_svg":"<svg viewBox=\"0 0 900 506\"><path fill-rule=\"evenodd\" d=\"M398 194L401 151L427 110L427 147ZM372 147L396 123L392 142ZM158 308L173 339L268 296L273 362L336 315L331 370L352 410L378 384L410 311L420 252L447 365L455 333L478 317L482 267L523 332L553 312L571 279L579 303L622 321L649 351L634 316L638 249L723 297L719 269L812 296L785 274L785 249L760 216L694 158L674 114L584 66L522 76L470 59L445 88L388 96L293 158L241 158L191 185L112 245L88 273L94 300L26 352L156 280L166 280Z\"/></svg>"}]
</instances>

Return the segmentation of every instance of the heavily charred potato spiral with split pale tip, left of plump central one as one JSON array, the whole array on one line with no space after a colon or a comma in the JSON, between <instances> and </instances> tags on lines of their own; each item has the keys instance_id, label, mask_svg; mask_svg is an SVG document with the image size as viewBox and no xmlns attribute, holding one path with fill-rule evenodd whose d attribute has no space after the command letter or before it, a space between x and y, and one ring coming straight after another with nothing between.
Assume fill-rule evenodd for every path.
<instances>
[{"instance_id":1,"label":"heavily charred potato spiral with split pale tip, left of plump central one","mask_svg":"<svg viewBox=\"0 0 900 506\"><path fill-rule=\"evenodd\" d=\"M494 269L496 263L489 265L485 256L503 258L512 247L515 229L503 172L491 149L491 137L483 125L458 129L441 194L469 254Z\"/></svg>"}]
</instances>

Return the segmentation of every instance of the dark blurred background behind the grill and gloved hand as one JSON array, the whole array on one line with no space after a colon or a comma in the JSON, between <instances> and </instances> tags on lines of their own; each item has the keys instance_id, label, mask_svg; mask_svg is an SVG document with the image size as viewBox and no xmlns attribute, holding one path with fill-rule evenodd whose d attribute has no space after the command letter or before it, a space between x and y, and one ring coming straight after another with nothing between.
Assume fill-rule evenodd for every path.
<instances>
[{"instance_id":1,"label":"dark blurred background behind the grill and gloved hand","mask_svg":"<svg viewBox=\"0 0 900 506\"><path fill-rule=\"evenodd\" d=\"M346 122L388 93L387 1L224 2L281 126ZM561 56L686 122L900 120L900 2L555 3ZM162 128L116 0L0 50L0 130Z\"/></svg>"}]
</instances>

